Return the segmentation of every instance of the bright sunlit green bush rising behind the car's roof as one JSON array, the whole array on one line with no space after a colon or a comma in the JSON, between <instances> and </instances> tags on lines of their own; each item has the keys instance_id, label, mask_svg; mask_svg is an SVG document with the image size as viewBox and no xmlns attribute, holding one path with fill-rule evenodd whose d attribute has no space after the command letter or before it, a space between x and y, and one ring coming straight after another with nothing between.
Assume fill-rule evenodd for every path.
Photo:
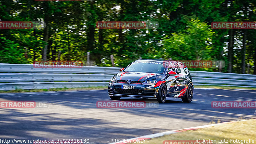
<instances>
[{"instance_id":1,"label":"bright sunlit green bush rising behind the car's roof","mask_svg":"<svg viewBox=\"0 0 256 144\"><path fill-rule=\"evenodd\" d=\"M173 60L210 60L213 32L200 20L191 20L187 28L166 36L163 58Z\"/></svg>"}]
</instances>

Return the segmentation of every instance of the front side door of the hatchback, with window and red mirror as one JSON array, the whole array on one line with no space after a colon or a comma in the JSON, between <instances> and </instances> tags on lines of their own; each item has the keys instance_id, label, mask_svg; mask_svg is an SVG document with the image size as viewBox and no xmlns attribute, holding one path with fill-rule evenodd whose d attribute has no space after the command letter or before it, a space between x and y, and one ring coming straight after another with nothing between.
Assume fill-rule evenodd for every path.
<instances>
[{"instance_id":1,"label":"front side door of the hatchback, with window and red mirror","mask_svg":"<svg viewBox=\"0 0 256 144\"><path fill-rule=\"evenodd\" d=\"M177 68L175 68L175 63L171 62L168 65L167 71L166 71L166 76L169 74L170 71L174 71L177 73ZM175 75L175 76L168 76L165 81L167 82L167 96L174 96L177 93L179 93L179 89L177 85L180 83L180 77ZM176 86L175 86L176 85Z\"/></svg>"}]
</instances>

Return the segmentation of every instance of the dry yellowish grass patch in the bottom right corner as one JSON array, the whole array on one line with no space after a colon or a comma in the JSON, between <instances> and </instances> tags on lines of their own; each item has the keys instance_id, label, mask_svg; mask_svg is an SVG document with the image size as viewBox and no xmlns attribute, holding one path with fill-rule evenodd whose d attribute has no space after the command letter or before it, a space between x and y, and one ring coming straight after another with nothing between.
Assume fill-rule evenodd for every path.
<instances>
[{"instance_id":1,"label":"dry yellowish grass patch in the bottom right corner","mask_svg":"<svg viewBox=\"0 0 256 144\"><path fill-rule=\"evenodd\" d=\"M233 122L227 124L220 124L216 126L201 128L197 130L190 130L185 132L178 132L170 135L165 135L151 140L145 140L146 144L164 144L164 140L216 140L213 144L218 144L219 140L222 143L242 143L242 141L233 140L254 140L256 143L256 119L250 119L240 122ZM224 142L225 140L228 140ZM243 142L246 143L246 142ZM248 142L253 143L253 142ZM170 143L168 143L170 144ZM182 144L182 143L181 143Z\"/></svg>"}]
</instances>

